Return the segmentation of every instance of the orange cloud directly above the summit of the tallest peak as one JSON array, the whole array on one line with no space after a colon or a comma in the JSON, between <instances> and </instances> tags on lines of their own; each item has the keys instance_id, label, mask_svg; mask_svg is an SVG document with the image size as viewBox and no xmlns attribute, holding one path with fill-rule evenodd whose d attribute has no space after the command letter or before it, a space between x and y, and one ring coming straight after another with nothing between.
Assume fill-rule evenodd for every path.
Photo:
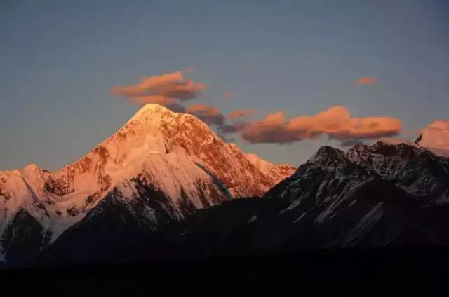
<instances>
[{"instance_id":1,"label":"orange cloud directly above the summit of the tallest peak","mask_svg":"<svg viewBox=\"0 0 449 297\"><path fill-rule=\"evenodd\" d=\"M195 83L186 80L182 71L160 76L142 78L135 85L121 85L112 88L113 95L122 97L163 96L177 99L194 99L201 96L201 91L206 88L204 83Z\"/></svg>"}]
</instances>

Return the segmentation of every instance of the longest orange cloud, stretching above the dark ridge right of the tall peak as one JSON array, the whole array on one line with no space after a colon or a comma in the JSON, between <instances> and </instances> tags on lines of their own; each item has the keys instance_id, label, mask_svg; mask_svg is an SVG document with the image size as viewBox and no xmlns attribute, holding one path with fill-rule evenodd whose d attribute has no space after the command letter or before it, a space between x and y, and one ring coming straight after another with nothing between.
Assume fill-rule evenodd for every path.
<instances>
[{"instance_id":1,"label":"longest orange cloud, stretching above the dark ridge right of the tall peak","mask_svg":"<svg viewBox=\"0 0 449 297\"><path fill-rule=\"evenodd\" d=\"M327 134L332 139L376 139L401 132L401 121L389 117L351 118L347 109L333 106L315 116L297 116L286 120L283 111L268 115L264 120L250 123L242 137L252 143L295 142Z\"/></svg>"}]
</instances>

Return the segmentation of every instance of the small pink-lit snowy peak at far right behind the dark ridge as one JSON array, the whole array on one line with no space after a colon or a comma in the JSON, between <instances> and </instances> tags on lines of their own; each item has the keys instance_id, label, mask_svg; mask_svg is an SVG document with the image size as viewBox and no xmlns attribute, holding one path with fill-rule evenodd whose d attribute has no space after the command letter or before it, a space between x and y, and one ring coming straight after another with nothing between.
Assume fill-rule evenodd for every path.
<instances>
[{"instance_id":1,"label":"small pink-lit snowy peak at far right behind the dark ridge","mask_svg":"<svg viewBox=\"0 0 449 297\"><path fill-rule=\"evenodd\" d=\"M449 156L449 122L436 120L431 123L421 132L416 144L438 155Z\"/></svg>"}]
</instances>

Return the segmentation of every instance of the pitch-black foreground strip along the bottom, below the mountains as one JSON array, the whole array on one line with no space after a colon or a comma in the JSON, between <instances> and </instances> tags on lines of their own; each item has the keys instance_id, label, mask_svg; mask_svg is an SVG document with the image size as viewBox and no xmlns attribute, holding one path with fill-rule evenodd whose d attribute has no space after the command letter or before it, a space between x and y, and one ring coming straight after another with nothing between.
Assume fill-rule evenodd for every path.
<instances>
[{"instance_id":1,"label":"pitch-black foreground strip along the bottom, below the mountains","mask_svg":"<svg viewBox=\"0 0 449 297\"><path fill-rule=\"evenodd\" d=\"M448 247L337 249L297 254L234 256L123 265L71 265L0 270L0 291L72 293L307 294L422 290L443 293ZM387 290L387 291L385 291ZM87 295L86 295L87 296Z\"/></svg>"}]
</instances>

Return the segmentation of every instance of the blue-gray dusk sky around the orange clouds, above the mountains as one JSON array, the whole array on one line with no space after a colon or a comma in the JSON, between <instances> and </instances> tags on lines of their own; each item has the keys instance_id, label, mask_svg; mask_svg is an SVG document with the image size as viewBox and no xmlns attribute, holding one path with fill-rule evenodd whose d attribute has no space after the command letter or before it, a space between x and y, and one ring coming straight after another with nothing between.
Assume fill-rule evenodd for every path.
<instances>
[{"instance_id":1,"label":"blue-gray dusk sky around the orange clouds, above the mountains","mask_svg":"<svg viewBox=\"0 0 449 297\"><path fill-rule=\"evenodd\" d=\"M448 34L444 0L0 1L0 169L72 163L139 109L114 86L190 67L206 89L186 105L255 109L255 120L340 105L398 119L411 139L449 118ZM364 77L375 81L354 84ZM232 138L292 165L340 145Z\"/></svg>"}]
</instances>

